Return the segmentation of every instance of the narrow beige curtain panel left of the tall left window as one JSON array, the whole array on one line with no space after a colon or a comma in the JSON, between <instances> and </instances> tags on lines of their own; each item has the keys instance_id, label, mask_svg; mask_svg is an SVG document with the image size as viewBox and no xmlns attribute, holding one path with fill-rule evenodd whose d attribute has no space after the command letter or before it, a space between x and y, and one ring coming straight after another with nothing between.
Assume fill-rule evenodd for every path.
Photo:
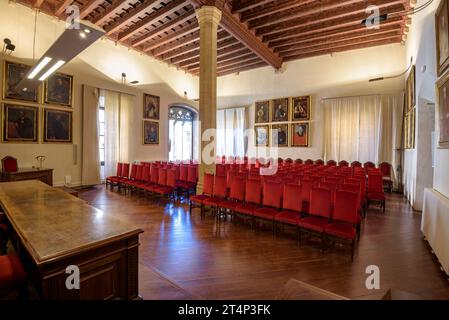
<instances>
[{"instance_id":1,"label":"narrow beige curtain panel left of the tall left window","mask_svg":"<svg viewBox=\"0 0 449 320\"><path fill-rule=\"evenodd\" d=\"M98 89L83 85L82 185L100 184Z\"/></svg>"}]
</instances>

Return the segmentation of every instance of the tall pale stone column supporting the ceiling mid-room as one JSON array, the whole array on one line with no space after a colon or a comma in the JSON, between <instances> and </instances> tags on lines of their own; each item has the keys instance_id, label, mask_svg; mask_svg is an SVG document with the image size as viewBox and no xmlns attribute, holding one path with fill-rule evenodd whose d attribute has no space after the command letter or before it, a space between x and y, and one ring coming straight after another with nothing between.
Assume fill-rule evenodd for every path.
<instances>
[{"instance_id":1,"label":"tall pale stone column supporting the ceiling mid-room","mask_svg":"<svg viewBox=\"0 0 449 320\"><path fill-rule=\"evenodd\" d=\"M197 193L203 192L204 173L215 173L215 163L206 164L203 150L210 150L215 162L215 141L202 141L203 133L217 128L217 29L221 19L221 11L214 6L203 6L197 9L196 16L200 25L200 165ZM212 145L211 145L212 143ZM210 159L209 159L210 161Z\"/></svg>"}]
</instances>

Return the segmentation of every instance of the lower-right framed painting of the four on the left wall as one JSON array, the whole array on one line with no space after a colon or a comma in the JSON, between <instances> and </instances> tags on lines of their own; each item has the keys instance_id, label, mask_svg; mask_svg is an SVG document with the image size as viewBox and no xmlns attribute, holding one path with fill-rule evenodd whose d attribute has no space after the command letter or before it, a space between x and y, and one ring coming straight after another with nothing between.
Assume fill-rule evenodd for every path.
<instances>
[{"instance_id":1,"label":"lower-right framed painting of the four on the left wall","mask_svg":"<svg viewBox=\"0 0 449 320\"><path fill-rule=\"evenodd\" d=\"M72 143L72 111L44 109L44 142Z\"/></svg>"}]
</instances>

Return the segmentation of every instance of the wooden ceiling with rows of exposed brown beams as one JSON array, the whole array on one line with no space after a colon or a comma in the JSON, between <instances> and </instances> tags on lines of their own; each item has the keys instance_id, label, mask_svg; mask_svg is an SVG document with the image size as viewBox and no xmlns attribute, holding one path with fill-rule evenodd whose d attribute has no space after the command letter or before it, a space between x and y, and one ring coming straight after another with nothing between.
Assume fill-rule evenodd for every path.
<instances>
[{"instance_id":1,"label":"wooden ceiling with rows of exposed brown beams","mask_svg":"<svg viewBox=\"0 0 449 320\"><path fill-rule=\"evenodd\" d=\"M129 48L197 75L199 25L195 9L222 10L218 30L218 76L262 66L359 48L400 43L406 38L413 0L18 0L65 19L77 5L81 18L104 28ZM392 15L378 29L361 24L369 5Z\"/></svg>"}]
</instances>

